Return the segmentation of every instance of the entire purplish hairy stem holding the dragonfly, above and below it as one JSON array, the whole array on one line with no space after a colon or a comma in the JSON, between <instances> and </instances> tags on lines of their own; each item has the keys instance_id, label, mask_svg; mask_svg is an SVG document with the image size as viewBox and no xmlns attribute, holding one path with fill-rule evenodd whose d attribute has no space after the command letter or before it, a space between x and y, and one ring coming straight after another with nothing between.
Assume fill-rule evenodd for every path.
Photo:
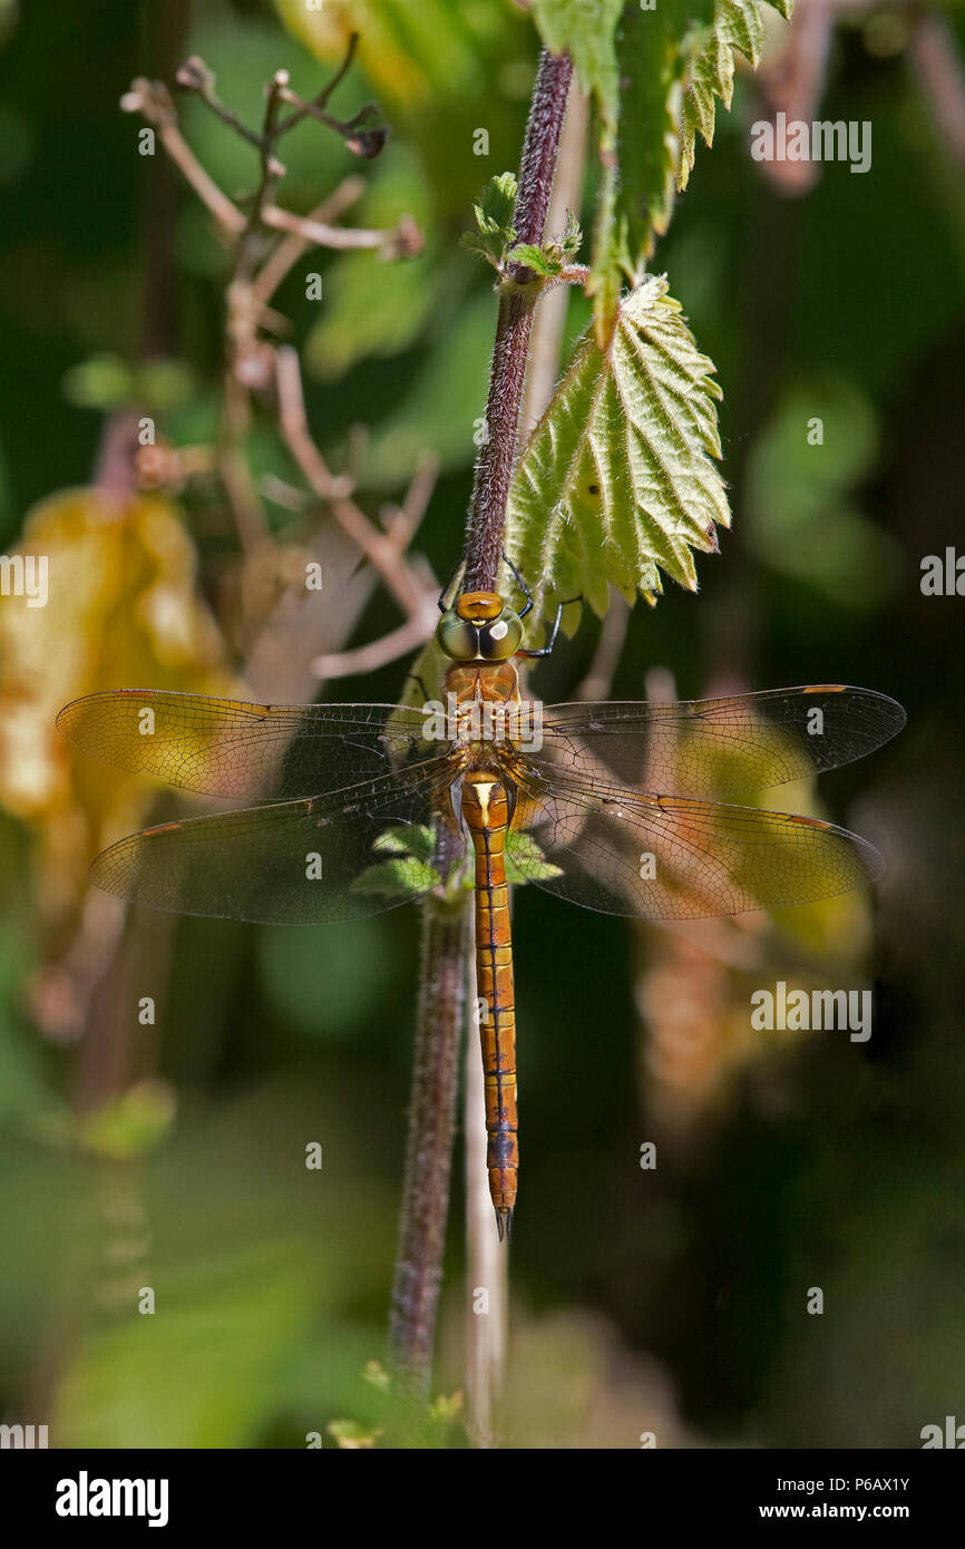
<instances>
[{"instance_id":1,"label":"entire purplish hairy stem holding the dragonfly, above and below it","mask_svg":"<svg viewBox=\"0 0 965 1549\"><path fill-rule=\"evenodd\" d=\"M570 76L568 56L544 50L517 181L513 223L519 242L542 242ZM537 294L536 287L519 288L533 279L522 265L510 265L507 279L514 288L503 290L499 302L486 400L488 435L476 468L466 534L463 584L468 589L491 589L496 584ZM440 874L446 874L445 864L440 864ZM469 945L468 908L454 914L451 905L429 898L423 920L406 1179L389 1320L392 1366L414 1397L428 1394L432 1371Z\"/></svg>"}]
</instances>

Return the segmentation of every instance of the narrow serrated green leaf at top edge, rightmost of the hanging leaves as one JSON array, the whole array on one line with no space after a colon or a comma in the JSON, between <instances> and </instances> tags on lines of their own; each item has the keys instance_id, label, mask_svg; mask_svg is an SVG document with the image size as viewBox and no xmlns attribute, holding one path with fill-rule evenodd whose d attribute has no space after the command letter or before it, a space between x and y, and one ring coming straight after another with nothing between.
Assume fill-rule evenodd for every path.
<instances>
[{"instance_id":1,"label":"narrow serrated green leaf at top edge, rightmost of the hanging leaves","mask_svg":"<svg viewBox=\"0 0 965 1549\"><path fill-rule=\"evenodd\" d=\"M790 20L793 0L768 0ZM709 26L691 33L688 88L680 115L677 187L685 189L694 167L697 135L713 146L717 101L730 108L734 96L734 50L754 68L764 48L762 0L716 0Z\"/></svg>"}]
</instances>

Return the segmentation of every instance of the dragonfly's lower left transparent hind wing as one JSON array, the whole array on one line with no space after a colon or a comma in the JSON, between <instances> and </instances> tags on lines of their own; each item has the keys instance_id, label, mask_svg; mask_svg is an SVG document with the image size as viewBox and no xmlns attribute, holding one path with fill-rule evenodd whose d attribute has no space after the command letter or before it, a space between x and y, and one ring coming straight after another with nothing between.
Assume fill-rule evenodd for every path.
<instances>
[{"instance_id":1,"label":"dragonfly's lower left transparent hind wing","mask_svg":"<svg viewBox=\"0 0 965 1549\"><path fill-rule=\"evenodd\" d=\"M331 796L163 823L112 844L91 875L108 892L177 914L277 925L381 914L434 886L428 864L403 844L386 850L386 840L431 833L449 778L449 761L437 757ZM452 855L462 840L449 843ZM390 886L379 881L386 866Z\"/></svg>"}]
</instances>

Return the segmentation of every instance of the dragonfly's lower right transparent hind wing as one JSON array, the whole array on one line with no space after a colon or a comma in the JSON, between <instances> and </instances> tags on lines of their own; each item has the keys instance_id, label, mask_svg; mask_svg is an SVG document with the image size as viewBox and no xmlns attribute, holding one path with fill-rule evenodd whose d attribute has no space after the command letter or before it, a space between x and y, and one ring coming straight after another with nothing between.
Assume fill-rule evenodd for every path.
<instances>
[{"instance_id":1,"label":"dragonfly's lower right transparent hind wing","mask_svg":"<svg viewBox=\"0 0 965 1549\"><path fill-rule=\"evenodd\" d=\"M881 874L878 852L830 823L610 787L555 788L514 771L514 847L528 881L603 914L686 920L812 903Z\"/></svg>"}]
</instances>

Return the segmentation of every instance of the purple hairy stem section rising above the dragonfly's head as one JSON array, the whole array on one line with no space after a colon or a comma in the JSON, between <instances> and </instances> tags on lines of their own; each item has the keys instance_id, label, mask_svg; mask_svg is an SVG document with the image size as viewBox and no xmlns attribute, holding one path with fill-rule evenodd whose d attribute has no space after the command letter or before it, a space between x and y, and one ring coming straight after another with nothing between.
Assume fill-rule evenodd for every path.
<instances>
[{"instance_id":1,"label":"purple hairy stem section rising above the dragonfly's head","mask_svg":"<svg viewBox=\"0 0 965 1549\"><path fill-rule=\"evenodd\" d=\"M544 239L572 68L568 54L548 54L545 50L541 54L513 217L517 242L537 246ZM524 265L510 263L507 279L511 285L525 287L533 276ZM530 287L503 290L499 297L486 438L476 463L466 530L466 592L493 590L496 586L537 294L537 287Z\"/></svg>"}]
</instances>

